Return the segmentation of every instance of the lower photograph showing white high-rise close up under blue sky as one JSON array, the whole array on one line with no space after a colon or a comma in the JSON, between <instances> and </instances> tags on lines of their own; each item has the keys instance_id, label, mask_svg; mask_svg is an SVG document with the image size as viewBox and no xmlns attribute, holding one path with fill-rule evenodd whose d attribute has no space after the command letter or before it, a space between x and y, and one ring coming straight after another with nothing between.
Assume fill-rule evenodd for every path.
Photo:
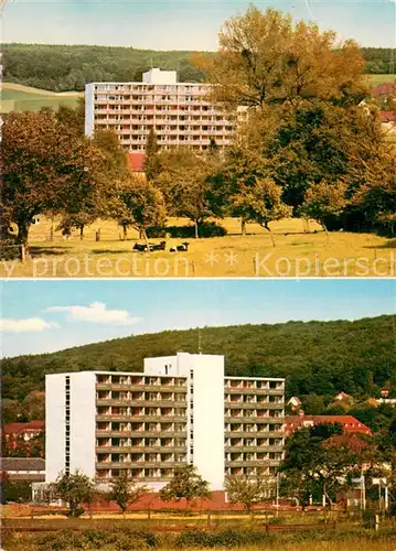
<instances>
[{"instance_id":1,"label":"lower photograph showing white high-rise close up under blue sky","mask_svg":"<svg viewBox=\"0 0 396 551\"><path fill-rule=\"evenodd\" d=\"M395 291L4 282L1 549L394 551Z\"/></svg>"}]
</instances>

